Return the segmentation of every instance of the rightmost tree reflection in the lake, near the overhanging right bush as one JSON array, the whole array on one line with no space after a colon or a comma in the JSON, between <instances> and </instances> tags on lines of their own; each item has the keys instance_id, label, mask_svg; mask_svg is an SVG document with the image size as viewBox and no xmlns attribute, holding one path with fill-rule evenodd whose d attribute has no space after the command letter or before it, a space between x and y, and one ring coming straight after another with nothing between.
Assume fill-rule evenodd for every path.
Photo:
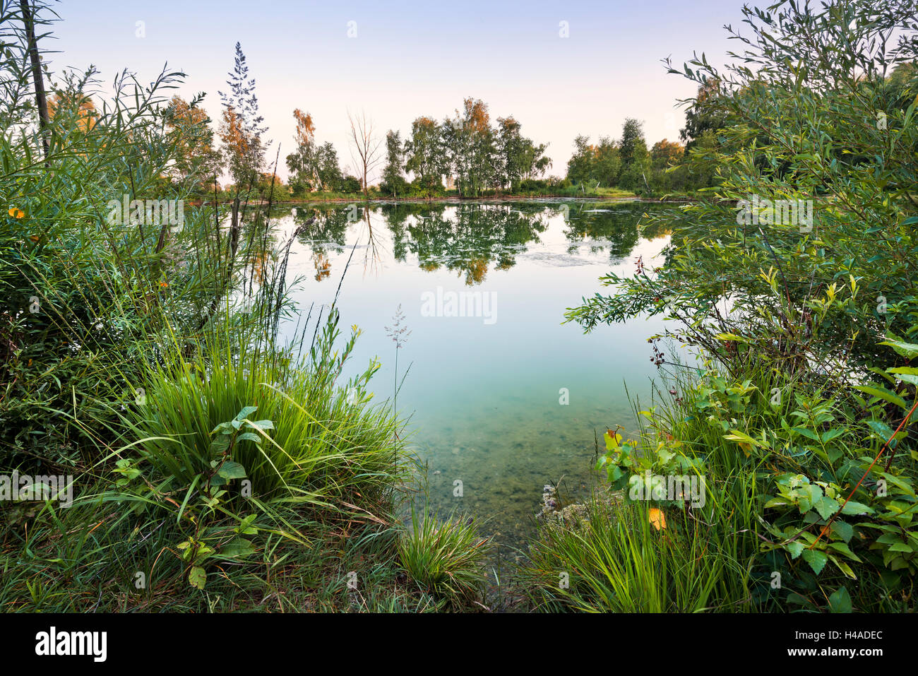
<instances>
[{"instance_id":1,"label":"rightmost tree reflection in the lake, near the overhanging right bush","mask_svg":"<svg viewBox=\"0 0 918 676\"><path fill-rule=\"evenodd\" d=\"M660 216L661 212L668 210L674 219L681 217L676 208L665 204L624 203L598 206L580 203L565 206L568 208L565 237L572 242L567 253L577 252L579 242L589 242L589 250L592 253L608 248L613 262L630 254L641 237L645 240L655 240L670 233L672 224L668 219L664 222L652 221L644 218L644 214L654 213L655 216ZM558 209L558 213L562 212L562 209Z\"/></svg>"}]
</instances>

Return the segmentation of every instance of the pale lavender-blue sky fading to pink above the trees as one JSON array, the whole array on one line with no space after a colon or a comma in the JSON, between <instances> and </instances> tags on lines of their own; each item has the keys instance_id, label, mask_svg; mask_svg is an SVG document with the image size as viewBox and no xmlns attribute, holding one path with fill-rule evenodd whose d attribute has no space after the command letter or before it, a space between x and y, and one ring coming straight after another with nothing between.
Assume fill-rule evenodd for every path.
<instances>
[{"instance_id":1,"label":"pale lavender-blue sky fading to pink above the trees","mask_svg":"<svg viewBox=\"0 0 918 676\"><path fill-rule=\"evenodd\" d=\"M642 2L294 2L294 0L63 0L52 70L94 63L106 84L129 68L143 81L164 62L188 74L179 93L207 92L215 120L237 40L283 158L293 150L293 109L312 114L319 141L332 141L350 164L348 110L363 109L380 135L411 120L442 119L465 96L483 99L492 120L512 115L523 133L548 142L549 174L564 175L577 133L617 137L626 117L644 120L650 143L677 139L681 64L693 50L720 63L723 24L740 24L740 0ZM145 37L139 38L142 21ZM356 37L348 37L348 22ZM559 35L567 22L569 37Z\"/></svg>"}]
</instances>

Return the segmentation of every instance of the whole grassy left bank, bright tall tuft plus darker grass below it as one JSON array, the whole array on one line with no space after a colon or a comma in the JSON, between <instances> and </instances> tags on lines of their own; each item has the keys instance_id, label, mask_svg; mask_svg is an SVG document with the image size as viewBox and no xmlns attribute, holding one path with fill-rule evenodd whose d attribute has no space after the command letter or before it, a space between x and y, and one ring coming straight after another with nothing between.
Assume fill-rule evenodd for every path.
<instances>
[{"instance_id":1,"label":"whole grassy left bank, bright tall tuft plus darker grass below it","mask_svg":"<svg viewBox=\"0 0 918 676\"><path fill-rule=\"evenodd\" d=\"M397 418L367 394L375 364L338 384L356 336L334 356L336 322L332 313L315 360L218 324L195 349L147 366L144 400L116 407L118 445L77 478L72 507L4 506L0 608L440 607L398 580L409 458ZM241 476L209 485L215 428L255 406L252 420L271 421L266 438L231 446Z\"/></svg>"}]
</instances>

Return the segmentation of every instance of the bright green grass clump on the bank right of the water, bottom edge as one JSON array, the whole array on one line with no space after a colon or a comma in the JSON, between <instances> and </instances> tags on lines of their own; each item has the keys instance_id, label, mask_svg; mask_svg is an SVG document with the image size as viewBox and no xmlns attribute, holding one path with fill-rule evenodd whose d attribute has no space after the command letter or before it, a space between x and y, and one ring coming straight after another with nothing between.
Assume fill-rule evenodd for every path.
<instances>
[{"instance_id":1,"label":"bright green grass clump on the bank right of the water, bottom edge","mask_svg":"<svg viewBox=\"0 0 918 676\"><path fill-rule=\"evenodd\" d=\"M657 529L650 507L588 504L577 525L544 525L521 570L537 610L690 613L748 610L747 574L730 556L735 538L669 513Z\"/></svg>"}]
</instances>

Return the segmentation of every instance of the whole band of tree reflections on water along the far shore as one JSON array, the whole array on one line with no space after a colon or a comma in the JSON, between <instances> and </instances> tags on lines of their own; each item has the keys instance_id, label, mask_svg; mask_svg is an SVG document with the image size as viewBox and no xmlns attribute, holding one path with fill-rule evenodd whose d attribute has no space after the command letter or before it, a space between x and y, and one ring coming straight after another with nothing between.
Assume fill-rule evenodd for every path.
<instances>
[{"instance_id":1,"label":"whole band of tree reflections on water along the far shore","mask_svg":"<svg viewBox=\"0 0 918 676\"><path fill-rule=\"evenodd\" d=\"M640 239L666 237L670 228L644 223L649 211L668 205L626 201L620 203L572 202L447 203L394 202L373 207L358 204L319 204L308 207L278 207L274 218L292 216L300 229L297 241L309 247L316 281L331 276L330 255L347 248L349 228L358 229L358 246L366 249L364 267L373 269L380 251L379 227L386 227L391 254L398 262L417 259L422 270L445 268L464 279L465 285L481 284L488 270L508 270L516 255L527 245L540 242L549 219L564 220L568 254L581 247L590 253L609 252L610 263L619 263ZM639 223L644 226L640 229Z\"/></svg>"}]
</instances>

